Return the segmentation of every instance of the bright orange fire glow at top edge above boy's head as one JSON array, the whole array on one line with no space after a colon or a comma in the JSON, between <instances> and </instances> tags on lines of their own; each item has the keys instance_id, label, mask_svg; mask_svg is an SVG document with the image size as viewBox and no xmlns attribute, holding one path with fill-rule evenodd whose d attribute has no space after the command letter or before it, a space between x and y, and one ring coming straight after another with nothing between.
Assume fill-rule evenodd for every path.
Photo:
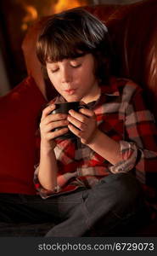
<instances>
[{"instance_id":1,"label":"bright orange fire glow at top edge above boy's head","mask_svg":"<svg viewBox=\"0 0 157 256\"><path fill-rule=\"evenodd\" d=\"M78 0L72 0L72 1L59 0L59 2L55 4L53 8L53 12L57 14L61 11L64 11L65 9L76 8L86 4L87 4L87 1L81 1L81 3L79 3Z\"/></svg>"}]
</instances>

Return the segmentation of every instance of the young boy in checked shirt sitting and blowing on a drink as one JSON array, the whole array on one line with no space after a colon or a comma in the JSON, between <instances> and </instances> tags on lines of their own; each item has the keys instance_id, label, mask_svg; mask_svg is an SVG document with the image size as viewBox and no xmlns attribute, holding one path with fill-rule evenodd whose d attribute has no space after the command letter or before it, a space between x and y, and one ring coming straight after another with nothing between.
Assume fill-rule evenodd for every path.
<instances>
[{"instance_id":1,"label":"young boy in checked shirt sitting and blowing on a drink","mask_svg":"<svg viewBox=\"0 0 157 256\"><path fill-rule=\"evenodd\" d=\"M55 223L46 236L131 236L147 217L143 186L156 186L156 128L141 88L110 75L107 28L83 9L50 17L36 54L59 93L40 121L39 195L3 195L1 221ZM88 108L49 114L76 101ZM67 131L76 140L59 138Z\"/></svg>"}]
</instances>

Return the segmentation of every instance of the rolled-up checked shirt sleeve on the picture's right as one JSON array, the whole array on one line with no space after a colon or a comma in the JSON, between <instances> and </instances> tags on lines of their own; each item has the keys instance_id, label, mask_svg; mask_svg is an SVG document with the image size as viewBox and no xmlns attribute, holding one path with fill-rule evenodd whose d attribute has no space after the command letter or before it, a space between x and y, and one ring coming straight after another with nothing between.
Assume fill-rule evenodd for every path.
<instances>
[{"instance_id":1,"label":"rolled-up checked shirt sleeve on the picture's right","mask_svg":"<svg viewBox=\"0 0 157 256\"><path fill-rule=\"evenodd\" d=\"M129 172L133 169L137 179L157 188L157 128L154 115L146 108L143 90L135 87L126 104L125 135L120 142L122 161L110 171Z\"/></svg>"}]
</instances>

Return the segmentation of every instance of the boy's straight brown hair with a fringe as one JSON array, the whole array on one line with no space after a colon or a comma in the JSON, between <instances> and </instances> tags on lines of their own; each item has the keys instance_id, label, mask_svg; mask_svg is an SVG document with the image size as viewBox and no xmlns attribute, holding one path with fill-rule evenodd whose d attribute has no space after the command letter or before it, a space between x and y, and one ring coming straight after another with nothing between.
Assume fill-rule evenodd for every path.
<instances>
[{"instance_id":1,"label":"boy's straight brown hair with a fringe","mask_svg":"<svg viewBox=\"0 0 157 256\"><path fill-rule=\"evenodd\" d=\"M52 15L36 42L36 55L42 63L93 54L99 84L109 80L111 44L107 27L84 9L70 9Z\"/></svg>"}]
</instances>

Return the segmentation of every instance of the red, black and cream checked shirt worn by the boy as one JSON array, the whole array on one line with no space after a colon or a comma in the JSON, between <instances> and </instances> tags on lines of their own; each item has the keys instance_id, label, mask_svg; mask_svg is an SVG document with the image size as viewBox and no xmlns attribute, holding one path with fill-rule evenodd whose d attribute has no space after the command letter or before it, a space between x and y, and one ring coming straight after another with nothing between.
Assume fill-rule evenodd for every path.
<instances>
[{"instance_id":1,"label":"red, black and cream checked shirt worn by the boy","mask_svg":"<svg viewBox=\"0 0 157 256\"><path fill-rule=\"evenodd\" d=\"M57 101L65 102L62 96L53 100ZM134 173L145 190L156 188L157 130L154 116L143 102L143 90L131 80L112 78L109 86L101 87L98 100L87 105L97 116L98 129L120 143L123 160L113 166L79 138L58 139L54 149L59 166L57 189L42 188L38 168L35 171L34 182L42 198L79 187L91 188L100 178L118 172Z\"/></svg>"}]
</instances>

